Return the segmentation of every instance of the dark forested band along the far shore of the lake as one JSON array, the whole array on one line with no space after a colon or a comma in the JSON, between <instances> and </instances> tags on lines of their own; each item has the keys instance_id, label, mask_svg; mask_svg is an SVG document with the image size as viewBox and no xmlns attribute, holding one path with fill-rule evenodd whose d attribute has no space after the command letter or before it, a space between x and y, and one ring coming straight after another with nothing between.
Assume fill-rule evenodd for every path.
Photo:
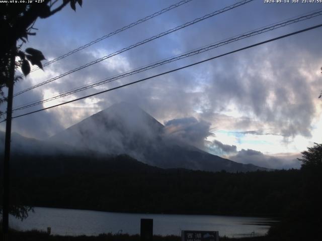
<instances>
[{"instance_id":1,"label":"dark forested band along the far shore of the lake","mask_svg":"<svg viewBox=\"0 0 322 241\"><path fill-rule=\"evenodd\" d=\"M282 216L299 200L299 170L160 169L129 156L13 157L16 204L116 212Z\"/></svg>"}]
</instances>

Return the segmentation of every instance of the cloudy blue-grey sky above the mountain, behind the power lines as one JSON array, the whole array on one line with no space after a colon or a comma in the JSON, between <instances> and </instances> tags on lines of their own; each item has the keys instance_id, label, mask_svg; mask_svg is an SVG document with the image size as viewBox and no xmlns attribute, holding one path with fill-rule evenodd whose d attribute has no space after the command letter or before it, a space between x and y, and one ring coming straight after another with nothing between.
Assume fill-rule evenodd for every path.
<instances>
[{"instance_id":1,"label":"cloudy blue-grey sky above the mountain, behind the power lines","mask_svg":"<svg viewBox=\"0 0 322 241\"><path fill-rule=\"evenodd\" d=\"M52 60L179 2L83 1L38 19L32 47ZM38 70L15 93L238 1L193 0ZM14 98L14 107L209 45L314 10L315 3L255 0L133 48ZM318 16L166 64L109 84L14 112L14 116L169 71L270 38L322 24ZM12 131L46 139L114 103L136 104L193 145L221 157L268 168L299 168L301 152L322 142L322 29L317 28L180 71L13 120ZM19 72L19 71L18 71ZM5 106L0 106L5 109ZM4 123L0 130L5 130ZM194 137L194 138L191 138ZM188 141L189 141L188 140Z\"/></svg>"}]
</instances>

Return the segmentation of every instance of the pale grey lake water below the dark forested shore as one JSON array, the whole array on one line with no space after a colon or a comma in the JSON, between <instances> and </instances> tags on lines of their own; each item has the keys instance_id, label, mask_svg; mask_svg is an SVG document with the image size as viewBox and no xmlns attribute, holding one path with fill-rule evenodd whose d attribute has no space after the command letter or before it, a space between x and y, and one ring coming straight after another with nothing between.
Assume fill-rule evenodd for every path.
<instances>
[{"instance_id":1,"label":"pale grey lake water below the dark forested shore","mask_svg":"<svg viewBox=\"0 0 322 241\"><path fill-rule=\"evenodd\" d=\"M153 218L153 234L181 235L181 230L214 230L220 236L265 235L268 218L217 215L131 214L36 207L24 221L10 217L10 225L19 230L38 229L59 235L98 235L100 233L140 232L140 219Z\"/></svg>"}]
</instances>

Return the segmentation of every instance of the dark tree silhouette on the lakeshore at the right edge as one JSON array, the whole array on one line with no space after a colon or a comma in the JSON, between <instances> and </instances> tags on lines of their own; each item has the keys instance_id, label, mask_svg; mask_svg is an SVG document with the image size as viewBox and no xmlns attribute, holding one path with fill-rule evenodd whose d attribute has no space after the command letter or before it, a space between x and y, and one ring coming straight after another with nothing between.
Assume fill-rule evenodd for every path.
<instances>
[{"instance_id":1,"label":"dark tree silhouette on the lakeshore at the right edge","mask_svg":"<svg viewBox=\"0 0 322 241\"><path fill-rule=\"evenodd\" d=\"M289 204L282 221L270 229L278 240L321 240L322 228L322 144L302 152L300 199Z\"/></svg>"}]
</instances>

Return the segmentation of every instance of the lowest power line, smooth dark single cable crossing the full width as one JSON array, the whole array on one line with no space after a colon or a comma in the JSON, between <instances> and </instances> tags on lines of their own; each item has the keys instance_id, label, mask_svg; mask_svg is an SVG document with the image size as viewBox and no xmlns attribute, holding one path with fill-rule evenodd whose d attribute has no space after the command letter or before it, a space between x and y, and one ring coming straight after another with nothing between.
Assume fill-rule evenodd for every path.
<instances>
[{"instance_id":1,"label":"lowest power line, smooth dark single cable crossing the full width","mask_svg":"<svg viewBox=\"0 0 322 241\"><path fill-rule=\"evenodd\" d=\"M309 31L309 30L312 30L312 29L316 29L316 28L320 28L320 27L322 27L322 24L315 25L315 26L310 27L310 28L302 29L302 30L299 30L299 31L296 31L296 32L293 32L293 33L290 33L290 34L282 35L282 36L279 36L279 37L276 37L276 38L273 38L273 39L269 39L269 40L266 40L266 41L263 41L263 42L260 42L260 43L257 43L257 44L249 45L249 46L244 47L244 48L240 48L240 49L237 49L237 50L233 50L233 51L230 51L230 52L225 53L225 54L220 54L220 55L217 55L217 56L212 57L212 58L209 58L209 59L205 59L205 60L202 60L202 61L199 61L199 62L195 62L193 64L185 65L183 67L176 68L176 69L173 69L173 70L170 70L170 71L167 71L167 72L163 72L163 73L160 73L160 74L156 74L156 75L153 75L153 76L150 76L150 77L147 77L147 78L143 78L143 79L140 79L140 80L136 80L136 81L133 81L133 82L130 82L130 83L127 83L127 84L123 84L123 85L120 85L120 86L111 88L111 89L107 89L107 90L103 90L103 91L100 91L100 92L97 92L97 93L94 93L94 94L86 95L86 96L81 97L81 98L69 100L69 101L66 101L66 102L63 102L63 103L60 103L60 104L56 104L56 105L52 105L52 106L49 106L49 107L46 107L46 108L42 108L42 109L38 109L38 110L35 110L35 111L31 111L31 112L28 112L28 113L25 113L25 114L16 115L16 116L14 116L12 118L13 119L14 118L18 118L18 117L25 116L25 115L29 115L29 114L32 114L32 113L36 113L36 112L39 112L39 111L42 111L42 110L54 108L54 107L57 107L57 106L60 106L60 105L63 105L63 104L71 103L71 102L74 102L74 101L77 101L77 100L81 100L81 99L85 99L85 98L88 98L88 97L92 97L92 96L95 96L95 95L98 95L98 94L102 94L102 93L105 93L105 92L109 92L109 91L112 91L112 90L115 90L115 89L119 89L119 88L122 88L122 87L125 87L125 86L128 86L128 85L132 85L132 84L135 84L135 83L139 83L139 82L142 82L142 81L145 81L145 80L148 80L148 79L152 79L152 78L155 78L155 77L158 77L158 76L162 76L162 75L165 75L165 74L169 74L169 73L172 73L172 72L175 72L175 71L178 71L178 70L181 70L181 69L185 69L185 68L188 68L188 67L197 65L197 64L201 64L201 63L207 62L209 60L217 59L217 58L223 57L225 55L229 55L229 54L236 53L236 52L239 52L239 51L242 51L242 50L250 49L250 48L253 48L253 47L262 45L262 44L266 44L266 43L269 43L269 42L272 42L272 41L275 41L275 40L278 40L278 39L283 39L283 38L286 38L286 37L289 37L289 36L292 36L292 35L296 35L296 34L299 34L299 33L303 33L303 32L306 32L306 31ZM5 121L6 121L6 119L4 121L2 121L2 122L5 122ZM0 123L2 123L2 122L0 122Z\"/></svg>"}]
</instances>

